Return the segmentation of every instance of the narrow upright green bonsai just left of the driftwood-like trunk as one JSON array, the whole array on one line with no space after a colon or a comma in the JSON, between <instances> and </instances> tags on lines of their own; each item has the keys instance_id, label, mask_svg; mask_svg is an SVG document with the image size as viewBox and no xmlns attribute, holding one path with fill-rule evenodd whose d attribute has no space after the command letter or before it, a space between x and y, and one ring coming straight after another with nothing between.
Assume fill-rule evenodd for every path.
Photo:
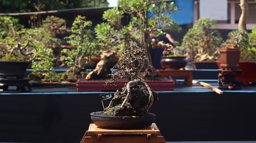
<instances>
[{"instance_id":1,"label":"narrow upright green bonsai just left of the driftwood-like trunk","mask_svg":"<svg viewBox=\"0 0 256 143\"><path fill-rule=\"evenodd\" d=\"M88 29L88 26L91 26L92 22L87 21L84 16L78 15L70 30L72 34L68 37L68 43L70 43L74 48L72 49L63 49L62 53L64 54L61 57L62 61L65 61L69 68L67 70L67 75L72 76L76 81L76 78L81 78L85 67L85 61L83 57L87 56L87 62L91 62L91 57L96 55L96 52L99 51L100 46L97 43L97 40L92 37L92 31ZM82 72L82 73L81 73Z\"/></svg>"}]
</instances>

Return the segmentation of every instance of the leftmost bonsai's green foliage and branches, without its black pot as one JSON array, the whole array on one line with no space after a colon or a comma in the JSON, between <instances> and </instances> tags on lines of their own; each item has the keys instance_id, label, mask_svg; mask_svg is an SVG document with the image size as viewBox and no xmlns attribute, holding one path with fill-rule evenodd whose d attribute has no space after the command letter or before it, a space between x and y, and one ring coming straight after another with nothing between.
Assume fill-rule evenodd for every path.
<instances>
[{"instance_id":1,"label":"leftmost bonsai's green foliage and branches, without its black pot","mask_svg":"<svg viewBox=\"0 0 256 143\"><path fill-rule=\"evenodd\" d=\"M21 29L17 30L11 17L1 18L4 20L2 27L8 29L7 35L0 39L1 60L32 61L33 70L51 70L53 65L52 49L47 48L51 38L43 29ZM13 21L12 21L13 20ZM8 25L8 28L7 26ZM34 63L35 60L40 62Z\"/></svg>"}]
</instances>

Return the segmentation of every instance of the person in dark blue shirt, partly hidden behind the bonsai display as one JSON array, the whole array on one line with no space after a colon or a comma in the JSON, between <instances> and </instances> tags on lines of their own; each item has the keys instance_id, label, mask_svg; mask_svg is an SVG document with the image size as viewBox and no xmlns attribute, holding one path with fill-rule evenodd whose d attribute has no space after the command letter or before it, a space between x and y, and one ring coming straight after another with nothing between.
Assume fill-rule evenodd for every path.
<instances>
[{"instance_id":1,"label":"person in dark blue shirt, partly hidden behind the bonsai display","mask_svg":"<svg viewBox=\"0 0 256 143\"><path fill-rule=\"evenodd\" d=\"M164 35L159 35L158 37L155 37L153 34L150 34L150 38L151 39L154 38L156 40L156 44L159 41L164 41L164 43L171 44L173 46L173 48L176 47L176 44L175 44L174 40L172 39L171 34L169 34L169 33L166 33ZM162 56L163 56L164 48L152 48L151 45L150 45L149 48L150 48L150 56L151 56L151 59L152 59L152 66L155 69L162 69L160 61L161 61Z\"/></svg>"}]
</instances>

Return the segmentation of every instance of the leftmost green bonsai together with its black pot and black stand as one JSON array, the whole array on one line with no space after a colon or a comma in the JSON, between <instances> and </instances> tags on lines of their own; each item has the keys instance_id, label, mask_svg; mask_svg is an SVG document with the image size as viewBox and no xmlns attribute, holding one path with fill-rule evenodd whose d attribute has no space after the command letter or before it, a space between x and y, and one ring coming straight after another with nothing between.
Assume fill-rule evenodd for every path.
<instances>
[{"instance_id":1,"label":"leftmost green bonsai together with its black pot and black stand","mask_svg":"<svg viewBox=\"0 0 256 143\"><path fill-rule=\"evenodd\" d=\"M26 69L31 65L34 71L51 70L53 53L49 42L51 35L41 28L22 29L18 20L12 17L0 17L0 89L16 86L17 90L31 90L26 77ZM37 62L35 62L37 60Z\"/></svg>"}]
</instances>

